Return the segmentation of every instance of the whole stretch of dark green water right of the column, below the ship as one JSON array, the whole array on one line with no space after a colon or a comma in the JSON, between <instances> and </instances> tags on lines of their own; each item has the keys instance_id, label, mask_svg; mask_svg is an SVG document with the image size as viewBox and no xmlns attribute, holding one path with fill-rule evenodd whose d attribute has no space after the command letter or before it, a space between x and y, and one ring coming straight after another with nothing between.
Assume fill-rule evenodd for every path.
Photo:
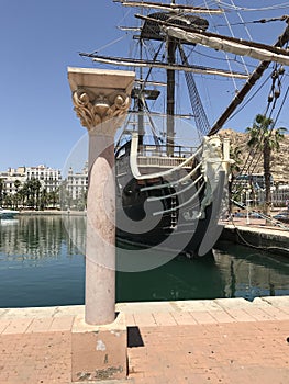
<instances>
[{"instance_id":1,"label":"whole stretch of dark green water right of the column, below the ship","mask_svg":"<svg viewBox=\"0 0 289 384\"><path fill-rule=\"evenodd\" d=\"M289 295L289 259L220 244L205 258L178 258L146 272L119 273L120 301Z\"/></svg>"}]
</instances>

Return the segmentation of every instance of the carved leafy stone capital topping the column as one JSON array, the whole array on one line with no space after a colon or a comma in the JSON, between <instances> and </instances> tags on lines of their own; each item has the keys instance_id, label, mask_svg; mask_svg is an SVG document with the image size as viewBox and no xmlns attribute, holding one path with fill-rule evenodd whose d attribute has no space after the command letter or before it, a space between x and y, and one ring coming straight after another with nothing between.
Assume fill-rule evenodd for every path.
<instances>
[{"instance_id":1,"label":"carved leafy stone capital topping the column","mask_svg":"<svg viewBox=\"0 0 289 384\"><path fill-rule=\"evenodd\" d=\"M134 72L68 68L74 110L90 134L114 136L131 103Z\"/></svg>"}]
</instances>

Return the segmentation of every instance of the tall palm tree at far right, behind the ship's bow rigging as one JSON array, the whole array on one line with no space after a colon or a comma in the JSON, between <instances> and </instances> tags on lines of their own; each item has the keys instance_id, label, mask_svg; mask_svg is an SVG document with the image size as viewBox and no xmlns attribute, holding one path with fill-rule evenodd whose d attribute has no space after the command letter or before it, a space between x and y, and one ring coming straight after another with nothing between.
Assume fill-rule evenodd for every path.
<instances>
[{"instance_id":1,"label":"tall palm tree at far right, behind the ship's bow rigging","mask_svg":"<svg viewBox=\"0 0 289 384\"><path fill-rule=\"evenodd\" d=\"M249 134L247 145L255 147L262 151L263 168L265 180L265 206L264 213L268 214L270 205L270 184L271 184L271 154L274 150L278 151L280 142L285 137L286 128L279 127L274 129L275 123L266 115L257 114L252 127L247 127L246 132Z\"/></svg>"}]
</instances>

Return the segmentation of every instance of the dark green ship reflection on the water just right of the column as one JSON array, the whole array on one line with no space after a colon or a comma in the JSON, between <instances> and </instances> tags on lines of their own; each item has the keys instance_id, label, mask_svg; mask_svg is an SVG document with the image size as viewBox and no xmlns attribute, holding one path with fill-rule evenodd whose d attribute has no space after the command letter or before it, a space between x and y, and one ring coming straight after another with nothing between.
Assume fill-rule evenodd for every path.
<instances>
[{"instance_id":1,"label":"dark green ship reflection on the water just right of the column","mask_svg":"<svg viewBox=\"0 0 289 384\"><path fill-rule=\"evenodd\" d=\"M178 257L145 272L120 272L116 279L119 301L176 301L225 296L225 281L213 253L190 260Z\"/></svg>"}]
</instances>

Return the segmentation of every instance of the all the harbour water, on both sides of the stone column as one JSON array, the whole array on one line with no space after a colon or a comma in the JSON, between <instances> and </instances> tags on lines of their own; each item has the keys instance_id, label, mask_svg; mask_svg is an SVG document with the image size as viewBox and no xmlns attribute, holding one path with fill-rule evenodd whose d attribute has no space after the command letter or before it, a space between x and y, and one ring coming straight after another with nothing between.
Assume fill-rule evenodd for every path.
<instances>
[{"instance_id":1,"label":"all the harbour water, on both sides of the stone column","mask_svg":"<svg viewBox=\"0 0 289 384\"><path fill-rule=\"evenodd\" d=\"M2 219L0 307L82 304L85 239L84 217ZM118 272L116 300L288 295L288 275L289 258L223 242L201 259L178 257L145 272Z\"/></svg>"}]
</instances>

